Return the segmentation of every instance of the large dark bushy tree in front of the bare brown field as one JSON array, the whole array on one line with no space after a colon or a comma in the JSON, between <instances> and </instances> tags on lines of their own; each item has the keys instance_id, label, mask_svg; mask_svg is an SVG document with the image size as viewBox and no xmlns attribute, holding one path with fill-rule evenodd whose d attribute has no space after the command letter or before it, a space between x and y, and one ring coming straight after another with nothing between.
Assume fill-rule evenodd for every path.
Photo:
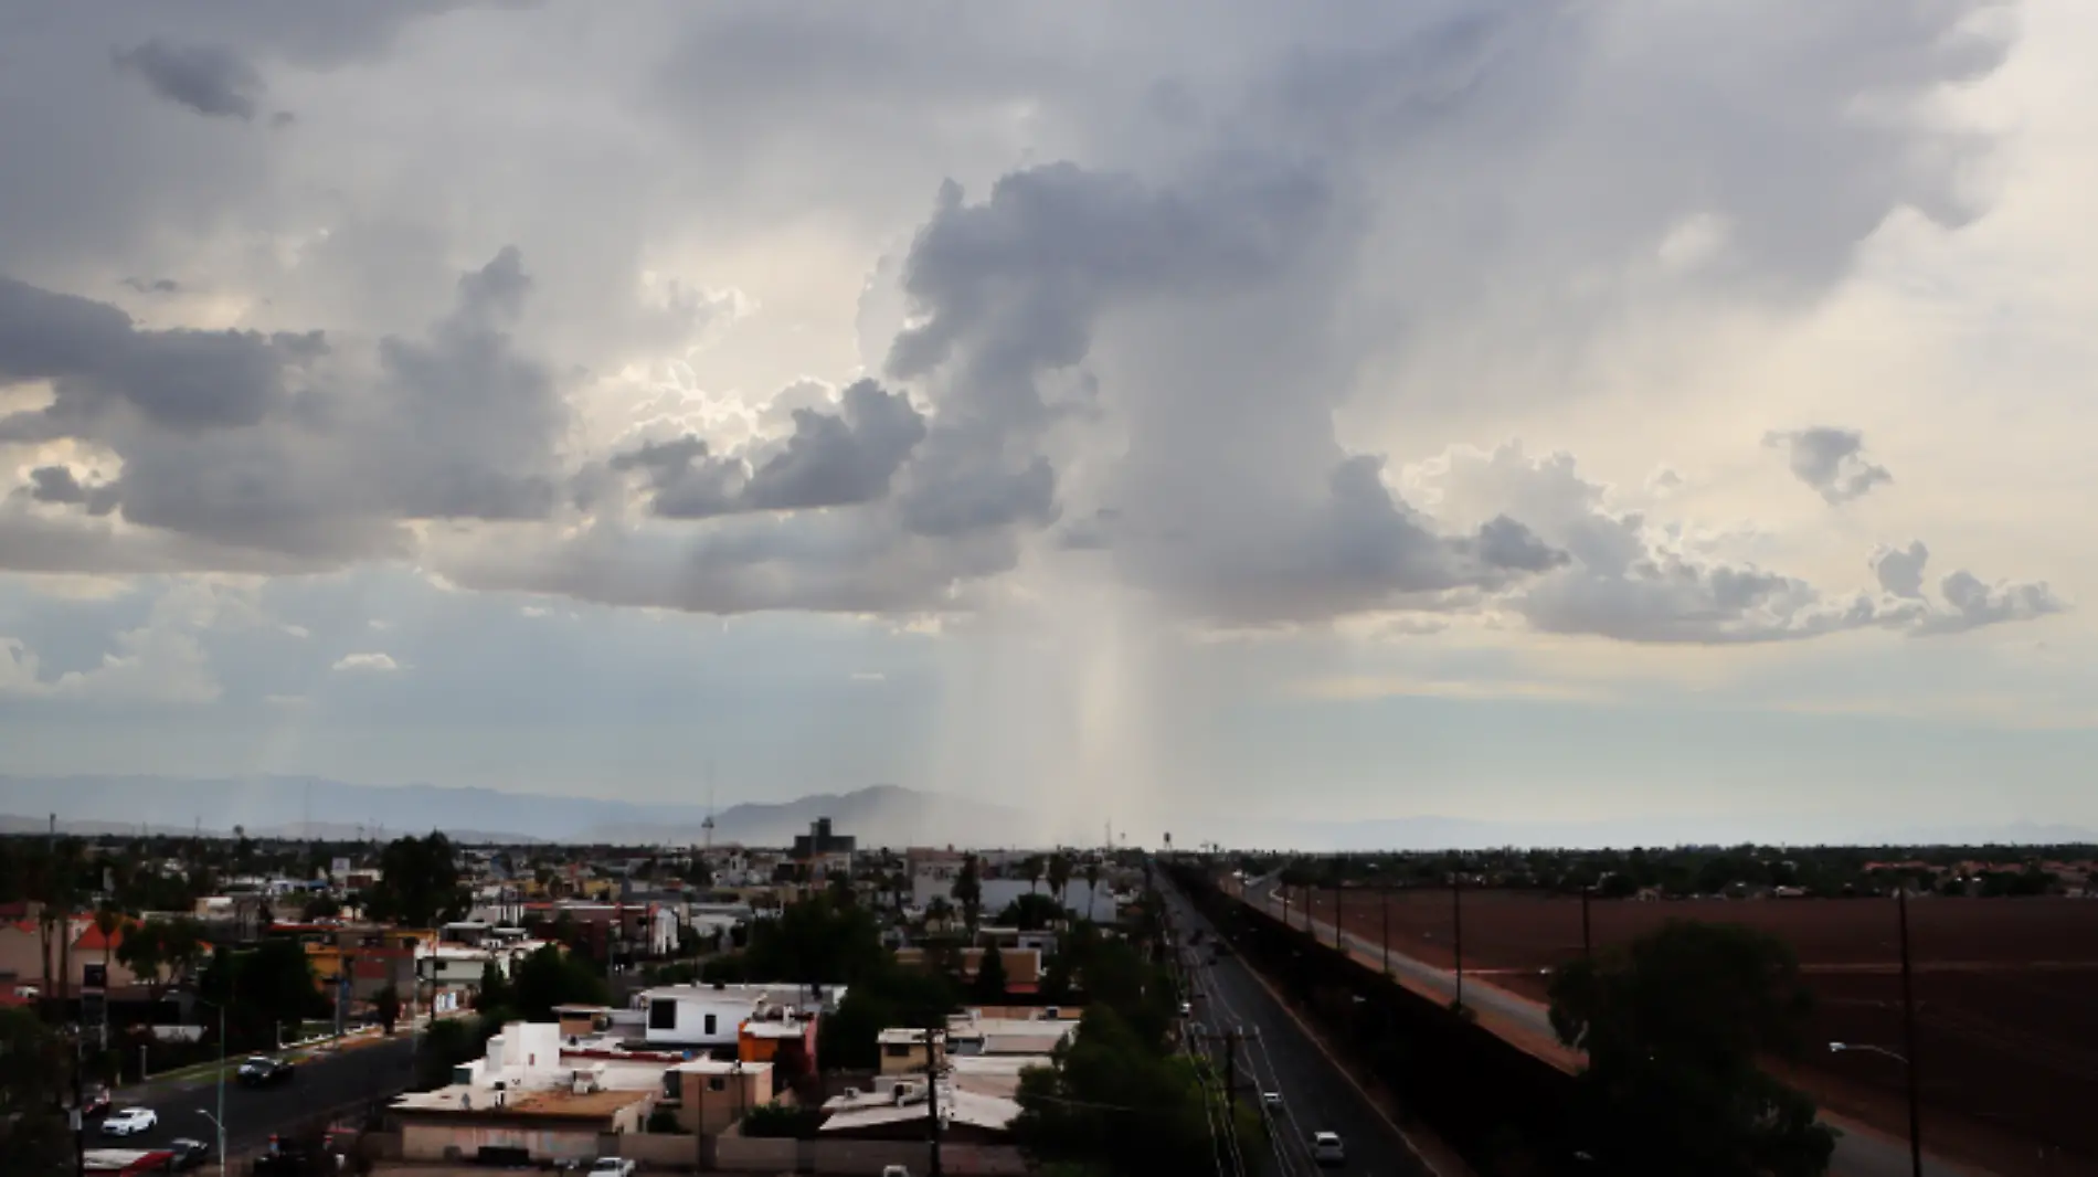
<instances>
[{"instance_id":1,"label":"large dark bushy tree in front of the bare brown field","mask_svg":"<svg viewBox=\"0 0 2098 1177\"><path fill-rule=\"evenodd\" d=\"M1553 976L1559 1039L1586 1051L1590 1152L1611 1173L1811 1177L1836 1135L1758 1060L1796 1060L1813 1001L1792 948L1722 923L1664 927Z\"/></svg>"}]
</instances>

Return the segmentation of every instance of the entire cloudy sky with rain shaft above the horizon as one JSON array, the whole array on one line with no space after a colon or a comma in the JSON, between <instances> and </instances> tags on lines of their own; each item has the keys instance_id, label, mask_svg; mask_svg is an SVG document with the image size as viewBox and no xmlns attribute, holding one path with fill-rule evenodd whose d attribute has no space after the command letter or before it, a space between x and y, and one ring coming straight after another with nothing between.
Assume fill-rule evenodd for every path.
<instances>
[{"instance_id":1,"label":"entire cloudy sky with rain shaft above the horizon","mask_svg":"<svg viewBox=\"0 0 2098 1177\"><path fill-rule=\"evenodd\" d=\"M0 774L2098 827L2092 52L0 0Z\"/></svg>"}]
</instances>

